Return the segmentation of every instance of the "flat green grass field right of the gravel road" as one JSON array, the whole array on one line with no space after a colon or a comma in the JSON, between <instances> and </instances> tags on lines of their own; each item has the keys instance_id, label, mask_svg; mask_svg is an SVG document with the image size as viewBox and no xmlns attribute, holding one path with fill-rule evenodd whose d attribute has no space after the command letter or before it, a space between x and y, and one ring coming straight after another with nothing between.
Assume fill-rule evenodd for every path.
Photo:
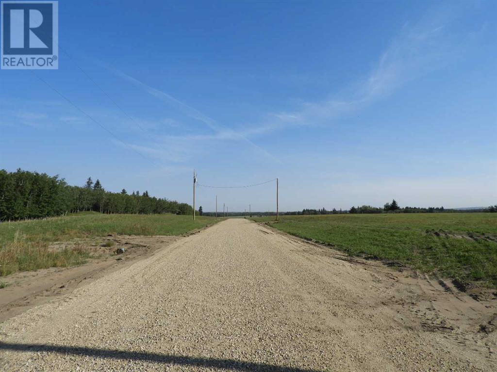
<instances>
[{"instance_id":1,"label":"flat green grass field right of the gravel road","mask_svg":"<svg viewBox=\"0 0 497 372\"><path fill-rule=\"evenodd\" d=\"M255 221L273 221L255 218ZM273 227L350 255L497 287L497 214L282 216Z\"/></svg>"}]
</instances>

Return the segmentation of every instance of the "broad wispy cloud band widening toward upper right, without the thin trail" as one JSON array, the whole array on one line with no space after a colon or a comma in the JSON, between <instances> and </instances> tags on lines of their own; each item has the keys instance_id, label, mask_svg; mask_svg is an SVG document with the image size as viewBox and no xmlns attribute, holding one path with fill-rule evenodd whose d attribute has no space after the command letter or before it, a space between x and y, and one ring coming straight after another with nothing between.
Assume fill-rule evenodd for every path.
<instances>
[{"instance_id":1,"label":"broad wispy cloud band widening toward upper right, without the thin trail","mask_svg":"<svg viewBox=\"0 0 497 372\"><path fill-rule=\"evenodd\" d=\"M333 119L363 109L406 83L443 68L460 47L448 27L453 17L453 10L434 7L417 23L406 23L380 54L370 74L349 86L341 96L304 102L292 112L267 114L258 124L246 125L243 135L260 135L292 126L329 125Z\"/></svg>"}]
</instances>

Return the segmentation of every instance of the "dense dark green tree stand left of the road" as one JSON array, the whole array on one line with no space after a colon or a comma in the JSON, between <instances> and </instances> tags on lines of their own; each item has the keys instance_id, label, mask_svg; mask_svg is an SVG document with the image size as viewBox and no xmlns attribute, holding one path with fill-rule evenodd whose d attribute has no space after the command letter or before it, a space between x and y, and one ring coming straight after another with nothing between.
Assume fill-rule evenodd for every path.
<instances>
[{"instance_id":1,"label":"dense dark green tree stand left of the road","mask_svg":"<svg viewBox=\"0 0 497 372\"><path fill-rule=\"evenodd\" d=\"M0 221L60 216L65 213L95 211L100 213L191 215L186 203L140 195L125 189L120 193L105 191L97 179L89 177L83 186L70 186L59 176L0 170Z\"/></svg>"}]
</instances>

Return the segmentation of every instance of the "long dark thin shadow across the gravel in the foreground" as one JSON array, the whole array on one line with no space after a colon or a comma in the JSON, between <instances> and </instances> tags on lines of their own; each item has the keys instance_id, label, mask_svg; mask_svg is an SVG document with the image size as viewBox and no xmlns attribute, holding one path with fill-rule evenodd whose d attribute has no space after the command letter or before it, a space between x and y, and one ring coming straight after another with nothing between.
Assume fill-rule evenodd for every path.
<instances>
[{"instance_id":1,"label":"long dark thin shadow across the gravel in the foreground","mask_svg":"<svg viewBox=\"0 0 497 372\"><path fill-rule=\"evenodd\" d=\"M122 359L146 361L163 364L177 364L183 366L224 368L232 371L271 371L271 372L321 372L318 370L301 369L296 367L276 366L265 363L238 361L234 359L216 359L203 357L188 357L171 354L134 352L112 349L94 349L78 346L44 345L44 344L17 344L0 342L0 350L19 352L50 352L65 355L80 355L96 358Z\"/></svg>"}]
</instances>

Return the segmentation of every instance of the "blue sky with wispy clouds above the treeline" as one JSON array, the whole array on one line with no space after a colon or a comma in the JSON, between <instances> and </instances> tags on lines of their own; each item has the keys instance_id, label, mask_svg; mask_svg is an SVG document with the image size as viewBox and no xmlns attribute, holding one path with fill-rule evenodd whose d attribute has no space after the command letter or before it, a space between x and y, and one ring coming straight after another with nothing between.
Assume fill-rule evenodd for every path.
<instances>
[{"instance_id":1,"label":"blue sky with wispy clouds above the treeline","mask_svg":"<svg viewBox=\"0 0 497 372\"><path fill-rule=\"evenodd\" d=\"M59 1L0 71L0 168L279 210L497 204L497 2ZM274 181L196 207L274 211Z\"/></svg>"}]
</instances>

